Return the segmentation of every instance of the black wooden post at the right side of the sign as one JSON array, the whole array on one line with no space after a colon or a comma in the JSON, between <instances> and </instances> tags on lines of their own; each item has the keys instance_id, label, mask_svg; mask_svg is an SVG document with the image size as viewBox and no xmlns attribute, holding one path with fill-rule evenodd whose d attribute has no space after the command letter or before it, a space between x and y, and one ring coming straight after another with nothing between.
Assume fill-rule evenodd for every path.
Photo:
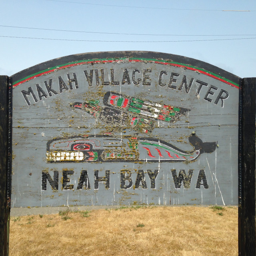
<instances>
[{"instance_id":1,"label":"black wooden post at the right side of the sign","mask_svg":"<svg viewBox=\"0 0 256 256\"><path fill-rule=\"evenodd\" d=\"M243 78L240 85L238 151L238 255L255 256L256 78Z\"/></svg>"}]
</instances>

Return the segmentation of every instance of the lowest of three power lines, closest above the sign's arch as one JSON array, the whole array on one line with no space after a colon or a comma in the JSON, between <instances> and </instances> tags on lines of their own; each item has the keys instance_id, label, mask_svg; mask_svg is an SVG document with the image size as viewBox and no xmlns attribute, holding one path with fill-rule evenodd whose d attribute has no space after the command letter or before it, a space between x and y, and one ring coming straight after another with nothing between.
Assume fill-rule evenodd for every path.
<instances>
[{"instance_id":1,"label":"lowest of three power lines, closest above the sign's arch","mask_svg":"<svg viewBox=\"0 0 256 256\"><path fill-rule=\"evenodd\" d=\"M59 41L79 41L79 42L126 42L126 43L163 43L163 42L198 42L198 41L224 41L224 40L243 40L243 39L256 39L251 38L229 38L229 39L202 39L202 40L172 40L172 41L115 41L115 40L78 40L78 39L57 39L57 38L36 38L24 36L0 36L8 38L26 38L26 39L42 39L42 40L59 40Z\"/></svg>"}]
</instances>

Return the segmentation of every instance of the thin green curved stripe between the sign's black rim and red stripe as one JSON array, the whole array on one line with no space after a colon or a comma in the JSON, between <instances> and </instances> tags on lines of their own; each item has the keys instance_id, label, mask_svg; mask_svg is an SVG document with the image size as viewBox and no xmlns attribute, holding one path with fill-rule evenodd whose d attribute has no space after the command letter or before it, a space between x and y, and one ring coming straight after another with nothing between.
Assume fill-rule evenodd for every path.
<instances>
[{"instance_id":1,"label":"thin green curved stripe between the sign's black rim and red stripe","mask_svg":"<svg viewBox=\"0 0 256 256\"><path fill-rule=\"evenodd\" d=\"M31 75L29 75L29 76L26 76L26 77L24 77L24 78L22 78L22 79L20 79L20 80L17 80L17 81L15 81L13 84L17 84L17 83L19 83L19 82L22 82L23 80L26 80L26 79L28 79L28 78L30 78L30 77L32 77L32 76L36 76L36 75L38 75L38 74L42 74L42 73L44 73L44 72L48 72L48 71L50 71L50 72L52 72L52 71L54 71L55 69L57 69L58 70L58 68L61 68L61 67L63 67L63 66L70 66L70 65L76 65L76 64L87 64L87 62L101 62L101 61L112 61L112 60L126 60L126 58L124 57L124 58L104 58L104 59L91 59L91 60L78 60L78 61L74 61L74 62L69 62L69 63L65 63L65 64L60 64L60 65L58 65L58 66L54 66L54 67L51 67L51 68L48 68L48 69L45 69L45 70L41 70L41 71L39 71L39 72L36 72L36 73L34 73L34 74L31 74ZM189 64L184 64L184 63L179 63L179 62L174 62L174 61L167 61L167 60L156 60L156 59L148 59L148 58L129 58L129 60L141 60L141 61L152 61L152 62L155 62L155 63L158 63L158 64L161 64L161 63L169 63L169 64L176 64L176 65L181 65L181 66L184 66L184 67L188 67L188 68L193 68L193 69L195 69L195 70L200 70L200 71L203 71L203 72L206 72L206 73L208 73L208 74L211 74L212 76L215 76L215 77L217 77L217 78L220 78L220 79L222 79L222 80L224 80L224 81L226 81L226 82L230 82L231 84L234 84L235 86L237 86L237 87L239 87L239 84L236 84L235 82L232 82L231 80L229 80L229 79L227 79L227 78L224 78L224 77L222 77L222 76L219 76L219 75L217 75L217 74L215 74L215 73L213 73L213 72L210 72L210 71L207 71L207 70L205 70L205 69L203 69L203 68L198 68L198 67L196 67L196 66L192 66L192 65L189 65Z\"/></svg>"}]
</instances>

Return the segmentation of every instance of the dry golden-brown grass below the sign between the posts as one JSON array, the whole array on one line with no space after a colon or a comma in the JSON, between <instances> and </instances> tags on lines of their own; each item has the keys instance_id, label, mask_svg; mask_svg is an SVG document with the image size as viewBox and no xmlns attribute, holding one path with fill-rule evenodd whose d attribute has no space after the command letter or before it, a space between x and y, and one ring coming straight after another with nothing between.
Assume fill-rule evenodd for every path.
<instances>
[{"instance_id":1,"label":"dry golden-brown grass below the sign between the posts","mask_svg":"<svg viewBox=\"0 0 256 256\"><path fill-rule=\"evenodd\" d=\"M238 255L236 207L134 206L89 215L12 217L9 255Z\"/></svg>"}]
</instances>

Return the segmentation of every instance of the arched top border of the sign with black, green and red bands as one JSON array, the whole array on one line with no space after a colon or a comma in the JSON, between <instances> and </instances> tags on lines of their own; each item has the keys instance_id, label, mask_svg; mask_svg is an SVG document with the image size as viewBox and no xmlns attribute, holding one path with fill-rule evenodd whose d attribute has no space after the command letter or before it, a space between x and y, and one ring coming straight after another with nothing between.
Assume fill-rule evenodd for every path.
<instances>
[{"instance_id":1,"label":"arched top border of the sign with black, green and red bands","mask_svg":"<svg viewBox=\"0 0 256 256\"><path fill-rule=\"evenodd\" d=\"M125 52L93 52L74 54L49 60L12 75L13 87L36 77L52 73L64 68L94 63L115 62L152 62L156 64L174 66L205 74L235 88L239 88L238 76L221 68L184 56L161 52L125 51Z\"/></svg>"}]
</instances>

